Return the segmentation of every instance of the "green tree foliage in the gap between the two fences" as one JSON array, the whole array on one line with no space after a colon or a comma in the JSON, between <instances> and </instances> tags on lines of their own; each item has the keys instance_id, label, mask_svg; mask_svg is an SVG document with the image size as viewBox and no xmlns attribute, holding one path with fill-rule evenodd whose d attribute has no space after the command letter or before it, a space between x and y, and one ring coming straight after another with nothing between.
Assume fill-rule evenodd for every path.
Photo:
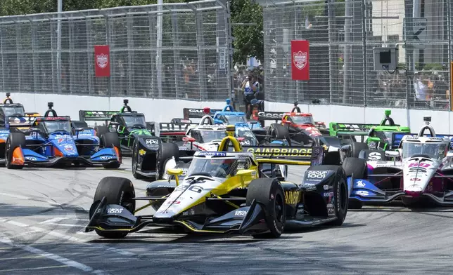
<instances>
[{"instance_id":1,"label":"green tree foliage in the gap between the two fences","mask_svg":"<svg viewBox=\"0 0 453 275\"><path fill-rule=\"evenodd\" d=\"M231 1L231 22L255 24L233 27L234 63L245 63L252 56L263 61L262 7L253 0Z\"/></svg>"}]
</instances>

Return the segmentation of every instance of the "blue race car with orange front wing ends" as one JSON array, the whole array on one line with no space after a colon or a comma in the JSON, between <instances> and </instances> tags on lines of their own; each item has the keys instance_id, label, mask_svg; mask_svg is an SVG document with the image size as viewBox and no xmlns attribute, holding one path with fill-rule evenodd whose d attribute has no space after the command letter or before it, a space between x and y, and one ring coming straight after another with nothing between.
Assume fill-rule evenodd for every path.
<instances>
[{"instance_id":1,"label":"blue race car with orange front wing ends","mask_svg":"<svg viewBox=\"0 0 453 275\"><path fill-rule=\"evenodd\" d=\"M75 128L73 125L69 116L41 116L35 118L32 128L11 131L5 146L6 167L63 168L70 164L120 167L121 151L117 133L104 133L101 136L102 148L94 129Z\"/></svg>"}]
</instances>

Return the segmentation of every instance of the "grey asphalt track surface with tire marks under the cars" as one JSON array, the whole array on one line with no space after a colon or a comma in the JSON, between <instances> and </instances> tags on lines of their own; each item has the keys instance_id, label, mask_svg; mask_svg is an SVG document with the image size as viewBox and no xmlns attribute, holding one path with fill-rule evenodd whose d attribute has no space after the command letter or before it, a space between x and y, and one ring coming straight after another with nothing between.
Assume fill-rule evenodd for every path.
<instances>
[{"instance_id":1,"label":"grey asphalt track surface with tire marks under the cars","mask_svg":"<svg viewBox=\"0 0 453 275\"><path fill-rule=\"evenodd\" d=\"M301 168L290 180L300 181ZM452 274L453 209L350 211L342 227L280 239L152 229L126 239L82 232L98 181L121 170L0 168L1 274ZM146 182L133 180L140 194Z\"/></svg>"}]
</instances>

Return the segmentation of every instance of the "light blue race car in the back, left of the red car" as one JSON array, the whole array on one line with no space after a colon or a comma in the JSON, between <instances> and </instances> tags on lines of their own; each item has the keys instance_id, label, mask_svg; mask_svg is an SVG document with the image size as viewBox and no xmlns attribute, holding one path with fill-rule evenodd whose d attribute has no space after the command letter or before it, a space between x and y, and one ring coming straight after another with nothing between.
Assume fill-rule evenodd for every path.
<instances>
[{"instance_id":1,"label":"light blue race car in the back, left of the red car","mask_svg":"<svg viewBox=\"0 0 453 275\"><path fill-rule=\"evenodd\" d=\"M230 105L231 100L227 99L227 105L222 110L211 110L206 107L203 109L184 109L184 119L203 118L205 115L212 116L215 124L234 125L236 127L247 127L257 135L266 135L267 130L259 121L247 121L244 112L237 112Z\"/></svg>"}]
</instances>

